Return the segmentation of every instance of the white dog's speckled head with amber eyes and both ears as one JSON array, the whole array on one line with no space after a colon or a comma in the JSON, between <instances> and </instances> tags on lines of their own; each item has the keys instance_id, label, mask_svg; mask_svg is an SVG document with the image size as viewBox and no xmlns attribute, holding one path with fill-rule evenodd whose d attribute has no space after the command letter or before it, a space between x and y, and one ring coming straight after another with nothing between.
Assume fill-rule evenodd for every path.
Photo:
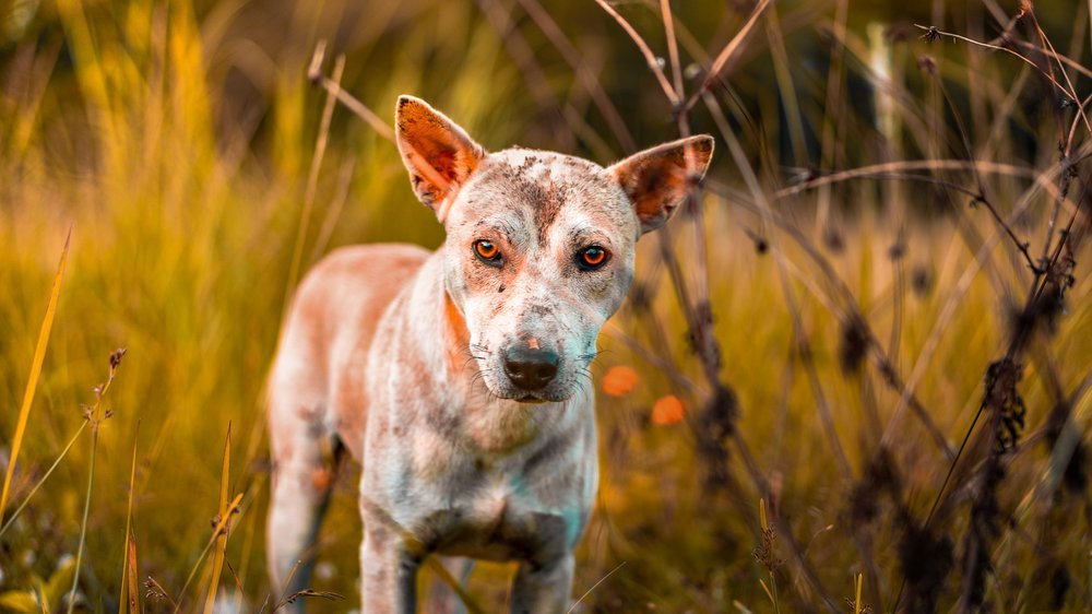
<instances>
[{"instance_id":1,"label":"white dog's speckled head with amber eyes and both ears","mask_svg":"<svg viewBox=\"0 0 1092 614\"><path fill-rule=\"evenodd\" d=\"M486 153L410 96L395 122L414 191L447 229L444 284L486 386L503 399L568 399L633 280L637 239L704 175L712 137L604 168L553 152Z\"/></svg>"}]
</instances>

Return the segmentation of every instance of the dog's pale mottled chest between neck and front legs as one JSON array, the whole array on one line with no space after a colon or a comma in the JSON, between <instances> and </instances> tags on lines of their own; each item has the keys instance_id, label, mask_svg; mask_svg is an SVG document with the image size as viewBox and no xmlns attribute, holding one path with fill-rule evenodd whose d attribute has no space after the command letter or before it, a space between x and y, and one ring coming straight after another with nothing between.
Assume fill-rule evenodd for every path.
<instances>
[{"instance_id":1,"label":"dog's pale mottled chest between neck and front legs","mask_svg":"<svg viewBox=\"0 0 1092 614\"><path fill-rule=\"evenodd\" d=\"M407 424L401 445L376 441L365 459L364 496L383 510L380 518L440 554L550 560L571 550L596 486L591 408L553 414L555 422L510 448L483 446L473 436L483 430L478 418L466 412L454 425L424 415L434 417ZM399 435L397 426L390 433Z\"/></svg>"}]
</instances>

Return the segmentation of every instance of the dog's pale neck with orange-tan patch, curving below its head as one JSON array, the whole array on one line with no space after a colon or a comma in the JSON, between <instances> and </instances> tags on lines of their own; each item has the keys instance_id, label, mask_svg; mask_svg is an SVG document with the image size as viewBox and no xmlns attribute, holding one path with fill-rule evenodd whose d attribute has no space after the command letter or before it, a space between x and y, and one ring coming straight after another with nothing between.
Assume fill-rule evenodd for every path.
<instances>
[{"instance_id":1,"label":"dog's pale neck with orange-tan patch, curving below its head","mask_svg":"<svg viewBox=\"0 0 1092 614\"><path fill-rule=\"evenodd\" d=\"M452 438L490 456L510 454L590 416L582 405L589 404L591 390L578 392L575 401L541 404L500 399L489 391L471 353L466 321L444 287L443 258L441 247L423 267L410 299L431 316L425 326L414 327L416 344L435 386L440 420L459 425Z\"/></svg>"}]
</instances>

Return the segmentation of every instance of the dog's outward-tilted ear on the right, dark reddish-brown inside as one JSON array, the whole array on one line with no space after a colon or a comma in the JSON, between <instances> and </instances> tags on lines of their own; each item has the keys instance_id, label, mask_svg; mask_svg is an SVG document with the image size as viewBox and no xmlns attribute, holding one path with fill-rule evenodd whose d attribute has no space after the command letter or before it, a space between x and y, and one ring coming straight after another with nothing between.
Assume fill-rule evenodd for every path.
<instances>
[{"instance_id":1,"label":"dog's outward-tilted ear on the right, dark reddish-brown inside","mask_svg":"<svg viewBox=\"0 0 1092 614\"><path fill-rule=\"evenodd\" d=\"M687 196L689 181L700 180L713 156L709 134L664 143L636 153L607 169L633 201L641 232L663 226Z\"/></svg>"}]
</instances>

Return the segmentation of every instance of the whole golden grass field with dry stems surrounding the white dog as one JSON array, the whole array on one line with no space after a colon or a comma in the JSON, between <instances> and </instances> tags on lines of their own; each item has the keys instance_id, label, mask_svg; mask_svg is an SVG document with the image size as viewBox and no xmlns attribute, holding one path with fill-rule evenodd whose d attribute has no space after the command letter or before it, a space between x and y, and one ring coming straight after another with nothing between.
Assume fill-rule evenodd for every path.
<instances>
[{"instance_id":1,"label":"whole golden grass field with dry stems surrounding the white dog","mask_svg":"<svg viewBox=\"0 0 1092 614\"><path fill-rule=\"evenodd\" d=\"M0 611L282 600L286 297L442 240L320 39L388 125L413 93L492 149L717 139L601 338L585 611L1092 611L1088 3L320 4L0 4ZM358 603L356 474L312 611Z\"/></svg>"}]
</instances>

